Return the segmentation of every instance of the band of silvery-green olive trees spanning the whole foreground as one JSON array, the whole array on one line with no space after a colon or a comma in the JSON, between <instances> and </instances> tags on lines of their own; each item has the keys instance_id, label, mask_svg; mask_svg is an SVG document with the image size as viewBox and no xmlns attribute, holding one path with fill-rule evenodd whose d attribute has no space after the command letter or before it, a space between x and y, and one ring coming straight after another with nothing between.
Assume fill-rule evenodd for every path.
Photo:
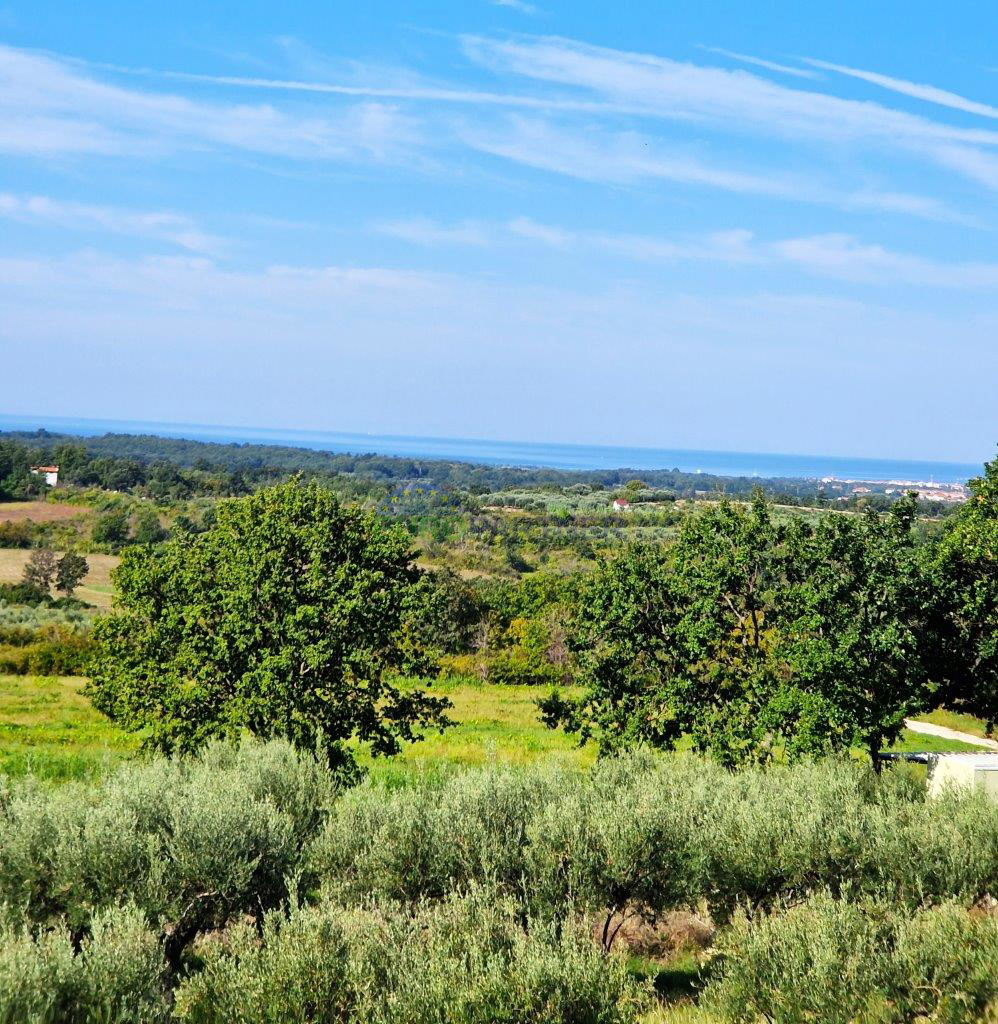
<instances>
[{"instance_id":1,"label":"band of silvery-green olive trees spanning the whole foreground","mask_svg":"<svg viewBox=\"0 0 998 1024\"><path fill-rule=\"evenodd\" d=\"M386 790L283 742L0 791L0 1016L637 1024L627 922L703 915L719 1020L988 1019L998 806L850 761L469 770ZM640 934L640 933L638 933ZM667 972L666 972L667 974Z\"/></svg>"}]
</instances>

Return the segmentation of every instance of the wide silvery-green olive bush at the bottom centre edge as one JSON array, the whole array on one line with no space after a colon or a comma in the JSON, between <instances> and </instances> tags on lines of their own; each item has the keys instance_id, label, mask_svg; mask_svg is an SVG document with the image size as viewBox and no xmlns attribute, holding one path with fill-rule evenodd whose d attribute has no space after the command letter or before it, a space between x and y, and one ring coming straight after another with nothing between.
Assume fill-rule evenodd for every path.
<instances>
[{"instance_id":1,"label":"wide silvery-green olive bush at the bottom centre edge","mask_svg":"<svg viewBox=\"0 0 998 1024\"><path fill-rule=\"evenodd\" d=\"M617 1024L645 990L578 928L524 929L488 890L442 903L335 904L272 914L177 993L190 1024L291 1020L365 1024Z\"/></svg>"}]
</instances>

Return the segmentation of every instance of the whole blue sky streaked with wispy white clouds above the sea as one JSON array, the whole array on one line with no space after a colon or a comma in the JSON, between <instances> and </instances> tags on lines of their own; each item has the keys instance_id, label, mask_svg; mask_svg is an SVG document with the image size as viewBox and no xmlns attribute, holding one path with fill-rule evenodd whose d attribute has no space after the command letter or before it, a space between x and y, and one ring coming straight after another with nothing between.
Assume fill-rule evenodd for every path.
<instances>
[{"instance_id":1,"label":"whole blue sky streaked with wispy white clouds above the sea","mask_svg":"<svg viewBox=\"0 0 998 1024\"><path fill-rule=\"evenodd\" d=\"M0 0L0 411L977 461L993 4Z\"/></svg>"}]
</instances>

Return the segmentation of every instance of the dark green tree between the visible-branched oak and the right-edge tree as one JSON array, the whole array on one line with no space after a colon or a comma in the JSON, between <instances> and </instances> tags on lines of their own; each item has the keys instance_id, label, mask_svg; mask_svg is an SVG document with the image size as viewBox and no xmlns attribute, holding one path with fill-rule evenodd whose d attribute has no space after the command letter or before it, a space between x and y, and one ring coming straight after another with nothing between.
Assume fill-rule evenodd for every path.
<instances>
[{"instance_id":1,"label":"dark green tree between the visible-branched oak and the right-edge tree","mask_svg":"<svg viewBox=\"0 0 998 1024\"><path fill-rule=\"evenodd\" d=\"M787 530L770 724L790 754L876 754L943 697L930 679L934 592L914 497L886 515L831 514Z\"/></svg>"}]
</instances>

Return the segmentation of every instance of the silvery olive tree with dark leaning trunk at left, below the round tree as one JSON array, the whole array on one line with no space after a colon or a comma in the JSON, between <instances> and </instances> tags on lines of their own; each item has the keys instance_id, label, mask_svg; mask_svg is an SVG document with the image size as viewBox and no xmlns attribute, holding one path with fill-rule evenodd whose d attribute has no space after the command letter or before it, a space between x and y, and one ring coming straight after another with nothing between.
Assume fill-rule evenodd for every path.
<instances>
[{"instance_id":1,"label":"silvery olive tree with dark leaning trunk at left, below the round tree","mask_svg":"<svg viewBox=\"0 0 998 1024\"><path fill-rule=\"evenodd\" d=\"M95 788L0 792L0 904L85 934L134 901L176 966L208 929L288 895L337 780L284 742L129 766Z\"/></svg>"}]
</instances>

